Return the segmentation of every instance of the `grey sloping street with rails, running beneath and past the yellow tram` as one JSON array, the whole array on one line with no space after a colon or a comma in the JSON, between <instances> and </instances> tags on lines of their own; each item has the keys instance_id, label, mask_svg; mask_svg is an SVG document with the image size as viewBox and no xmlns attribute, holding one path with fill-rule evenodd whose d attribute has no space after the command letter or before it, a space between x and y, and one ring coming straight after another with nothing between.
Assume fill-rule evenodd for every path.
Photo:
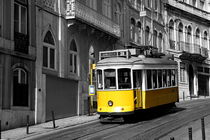
<instances>
[{"instance_id":1,"label":"grey sloping street with rails, running beneath and past the yellow tram","mask_svg":"<svg viewBox=\"0 0 210 140\"><path fill-rule=\"evenodd\" d=\"M129 123L101 124L97 121L37 139L161 139L209 114L210 99L190 100L177 103L173 109L161 108L139 113L137 119Z\"/></svg>"}]
</instances>

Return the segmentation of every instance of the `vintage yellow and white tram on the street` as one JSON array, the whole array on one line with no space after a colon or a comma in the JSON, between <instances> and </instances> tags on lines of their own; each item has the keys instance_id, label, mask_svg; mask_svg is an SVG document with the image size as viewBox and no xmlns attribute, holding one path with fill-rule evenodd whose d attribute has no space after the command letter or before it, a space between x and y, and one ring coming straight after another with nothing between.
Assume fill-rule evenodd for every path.
<instances>
[{"instance_id":1,"label":"vintage yellow and white tram on the street","mask_svg":"<svg viewBox=\"0 0 210 140\"><path fill-rule=\"evenodd\" d=\"M136 49L99 53L97 112L122 117L136 110L178 102L177 63L166 58L147 58Z\"/></svg>"}]
</instances>

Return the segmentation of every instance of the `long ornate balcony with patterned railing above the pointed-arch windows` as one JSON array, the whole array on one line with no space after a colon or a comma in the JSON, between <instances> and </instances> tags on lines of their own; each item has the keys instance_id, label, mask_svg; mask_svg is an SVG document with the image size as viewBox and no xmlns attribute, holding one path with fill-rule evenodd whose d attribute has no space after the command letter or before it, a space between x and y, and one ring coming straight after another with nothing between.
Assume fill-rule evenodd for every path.
<instances>
[{"instance_id":1,"label":"long ornate balcony with patterned railing above the pointed-arch windows","mask_svg":"<svg viewBox=\"0 0 210 140\"><path fill-rule=\"evenodd\" d=\"M91 26L102 29L116 37L120 37L120 27L108 17L98 13L79 1L66 1L66 19L78 19Z\"/></svg>"}]
</instances>

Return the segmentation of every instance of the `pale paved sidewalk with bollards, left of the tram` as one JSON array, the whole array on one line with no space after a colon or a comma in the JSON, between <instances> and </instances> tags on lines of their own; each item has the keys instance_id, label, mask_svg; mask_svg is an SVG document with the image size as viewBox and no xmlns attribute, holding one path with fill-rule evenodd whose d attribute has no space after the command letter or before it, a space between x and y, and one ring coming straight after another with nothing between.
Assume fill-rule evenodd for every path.
<instances>
[{"instance_id":1,"label":"pale paved sidewalk with bollards, left of the tram","mask_svg":"<svg viewBox=\"0 0 210 140\"><path fill-rule=\"evenodd\" d=\"M73 127L79 124L97 121L99 115L94 114L92 116L74 116L64 119L55 120L56 128L53 128L52 121L33 125L29 128L29 134L26 134L26 127L6 130L2 132L1 138L3 140L22 140L30 139L39 135L44 135L45 133L53 133L54 131L59 131L67 127Z\"/></svg>"}]
</instances>

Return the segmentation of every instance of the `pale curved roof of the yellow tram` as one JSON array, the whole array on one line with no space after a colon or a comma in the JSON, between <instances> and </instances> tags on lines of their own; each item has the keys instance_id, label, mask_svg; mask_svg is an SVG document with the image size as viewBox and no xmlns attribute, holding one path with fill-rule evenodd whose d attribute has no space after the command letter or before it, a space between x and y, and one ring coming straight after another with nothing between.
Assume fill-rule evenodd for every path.
<instances>
[{"instance_id":1,"label":"pale curved roof of the yellow tram","mask_svg":"<svg viewBox=\"0 0 210 140\"><path fill-rule=\"evenodd\" d=\"M177 62L166 58L112 57L100 60L97 65L177 65Z\"/></svg>"}]
</instances>

